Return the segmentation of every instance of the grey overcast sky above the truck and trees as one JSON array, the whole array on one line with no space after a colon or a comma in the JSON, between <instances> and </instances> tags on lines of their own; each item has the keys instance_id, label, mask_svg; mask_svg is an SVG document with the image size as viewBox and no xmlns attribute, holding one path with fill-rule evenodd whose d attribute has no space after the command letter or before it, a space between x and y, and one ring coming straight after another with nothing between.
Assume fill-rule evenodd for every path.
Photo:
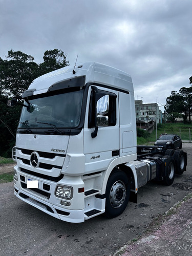
<instances>
[{"instance_id":1,"label":"grey overcast sky above the truck and trees","mask_svg":"<svg viewBox=\"0 0 192 256\"><path fill-rule=\"evenodd\" d=\"M40 63L57 48L74 65L79 54L131 74L135 99L161 105L190 86L191 10L191 0L0 0L0 57Z\"/></svg>"}]
</instances>

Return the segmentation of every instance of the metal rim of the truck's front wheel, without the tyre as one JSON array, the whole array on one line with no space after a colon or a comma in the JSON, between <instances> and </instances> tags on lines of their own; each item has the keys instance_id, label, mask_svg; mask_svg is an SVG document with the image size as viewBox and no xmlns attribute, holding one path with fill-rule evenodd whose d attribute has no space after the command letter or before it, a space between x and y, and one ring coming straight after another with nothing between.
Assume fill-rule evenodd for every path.
<instances>
[{"instance_id":1,"label":"metal rim of the truck's front wheel, without the tyre","mask_svg":"<svg viewBox=\"0 0 192 256\"><path fill-rule=\"evenodd\" d=\"M110 191L110 203L114 208L120 207L126 197L126 186L122 181L116 181Z\"/></svg>"}]
</instances>

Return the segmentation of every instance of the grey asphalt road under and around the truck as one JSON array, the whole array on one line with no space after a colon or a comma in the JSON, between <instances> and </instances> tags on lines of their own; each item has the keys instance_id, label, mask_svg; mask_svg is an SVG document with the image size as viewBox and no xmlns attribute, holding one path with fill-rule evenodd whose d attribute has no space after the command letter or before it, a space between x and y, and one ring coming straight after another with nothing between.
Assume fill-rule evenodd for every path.
<instances>
[{"instance_id":1,"label":"grey asphalt road under and around the truck","mask_svg":"<svg viewBox=\"0 0 192 256\"><path fill-rule=\"evenodd\" d=\"M172 186L150 182L139 188L138 204L129 203L115 219L99 216L84 223L59 221L17 199L13 183L0 184L0 255L110 255L142 234L162 214L192 191L192 144L187 172Z\"/></svg>"}]
</instances>

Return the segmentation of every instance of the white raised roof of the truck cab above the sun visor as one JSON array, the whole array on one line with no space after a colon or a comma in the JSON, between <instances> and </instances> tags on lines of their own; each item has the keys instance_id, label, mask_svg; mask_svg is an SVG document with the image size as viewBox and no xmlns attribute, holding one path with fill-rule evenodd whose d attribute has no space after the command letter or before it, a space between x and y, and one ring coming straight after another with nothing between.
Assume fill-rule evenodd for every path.
<instances>
[{"instance_id":1,"label":"white raised roof of the truck cab above the sun visor","mask_svg":"<svg viewBox=\"0 0 192 256\"><path fill-rule=\"evenodd\" d=\"M66 66L36 78L30 84L27 93L23 94L23 98L26 95L46 93L55 83L78 76L86 77L85 84L98 83L117 90L134 92L132 78L129 74L101 63L83 62L78 63L75 68L74 66Z\"/></svg>"}]
</instances>

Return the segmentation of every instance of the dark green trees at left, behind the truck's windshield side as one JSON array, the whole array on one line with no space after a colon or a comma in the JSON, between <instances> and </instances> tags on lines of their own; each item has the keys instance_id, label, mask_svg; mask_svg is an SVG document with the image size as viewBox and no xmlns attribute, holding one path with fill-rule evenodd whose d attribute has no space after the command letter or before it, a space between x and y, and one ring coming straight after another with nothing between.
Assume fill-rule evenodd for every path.
<instances>
[{"instance_id":1,"label":"dark green trees at left, behind the truck's windshield side","mask_svg":"<svg viewBox=\"0 0 192 256\"><path fill-rule=\"evenodd\" d=\"M69 62L63 51L54 49L44 53L44 62L37 64L31 55L21 51L8 51L6 59L0 58L0 155L12 156L21 106L8 108L7 98L20 96L31 82L40 75L63 68ZM8 128L7 128L8 127Z\"/></svg>"}]
</instances>

